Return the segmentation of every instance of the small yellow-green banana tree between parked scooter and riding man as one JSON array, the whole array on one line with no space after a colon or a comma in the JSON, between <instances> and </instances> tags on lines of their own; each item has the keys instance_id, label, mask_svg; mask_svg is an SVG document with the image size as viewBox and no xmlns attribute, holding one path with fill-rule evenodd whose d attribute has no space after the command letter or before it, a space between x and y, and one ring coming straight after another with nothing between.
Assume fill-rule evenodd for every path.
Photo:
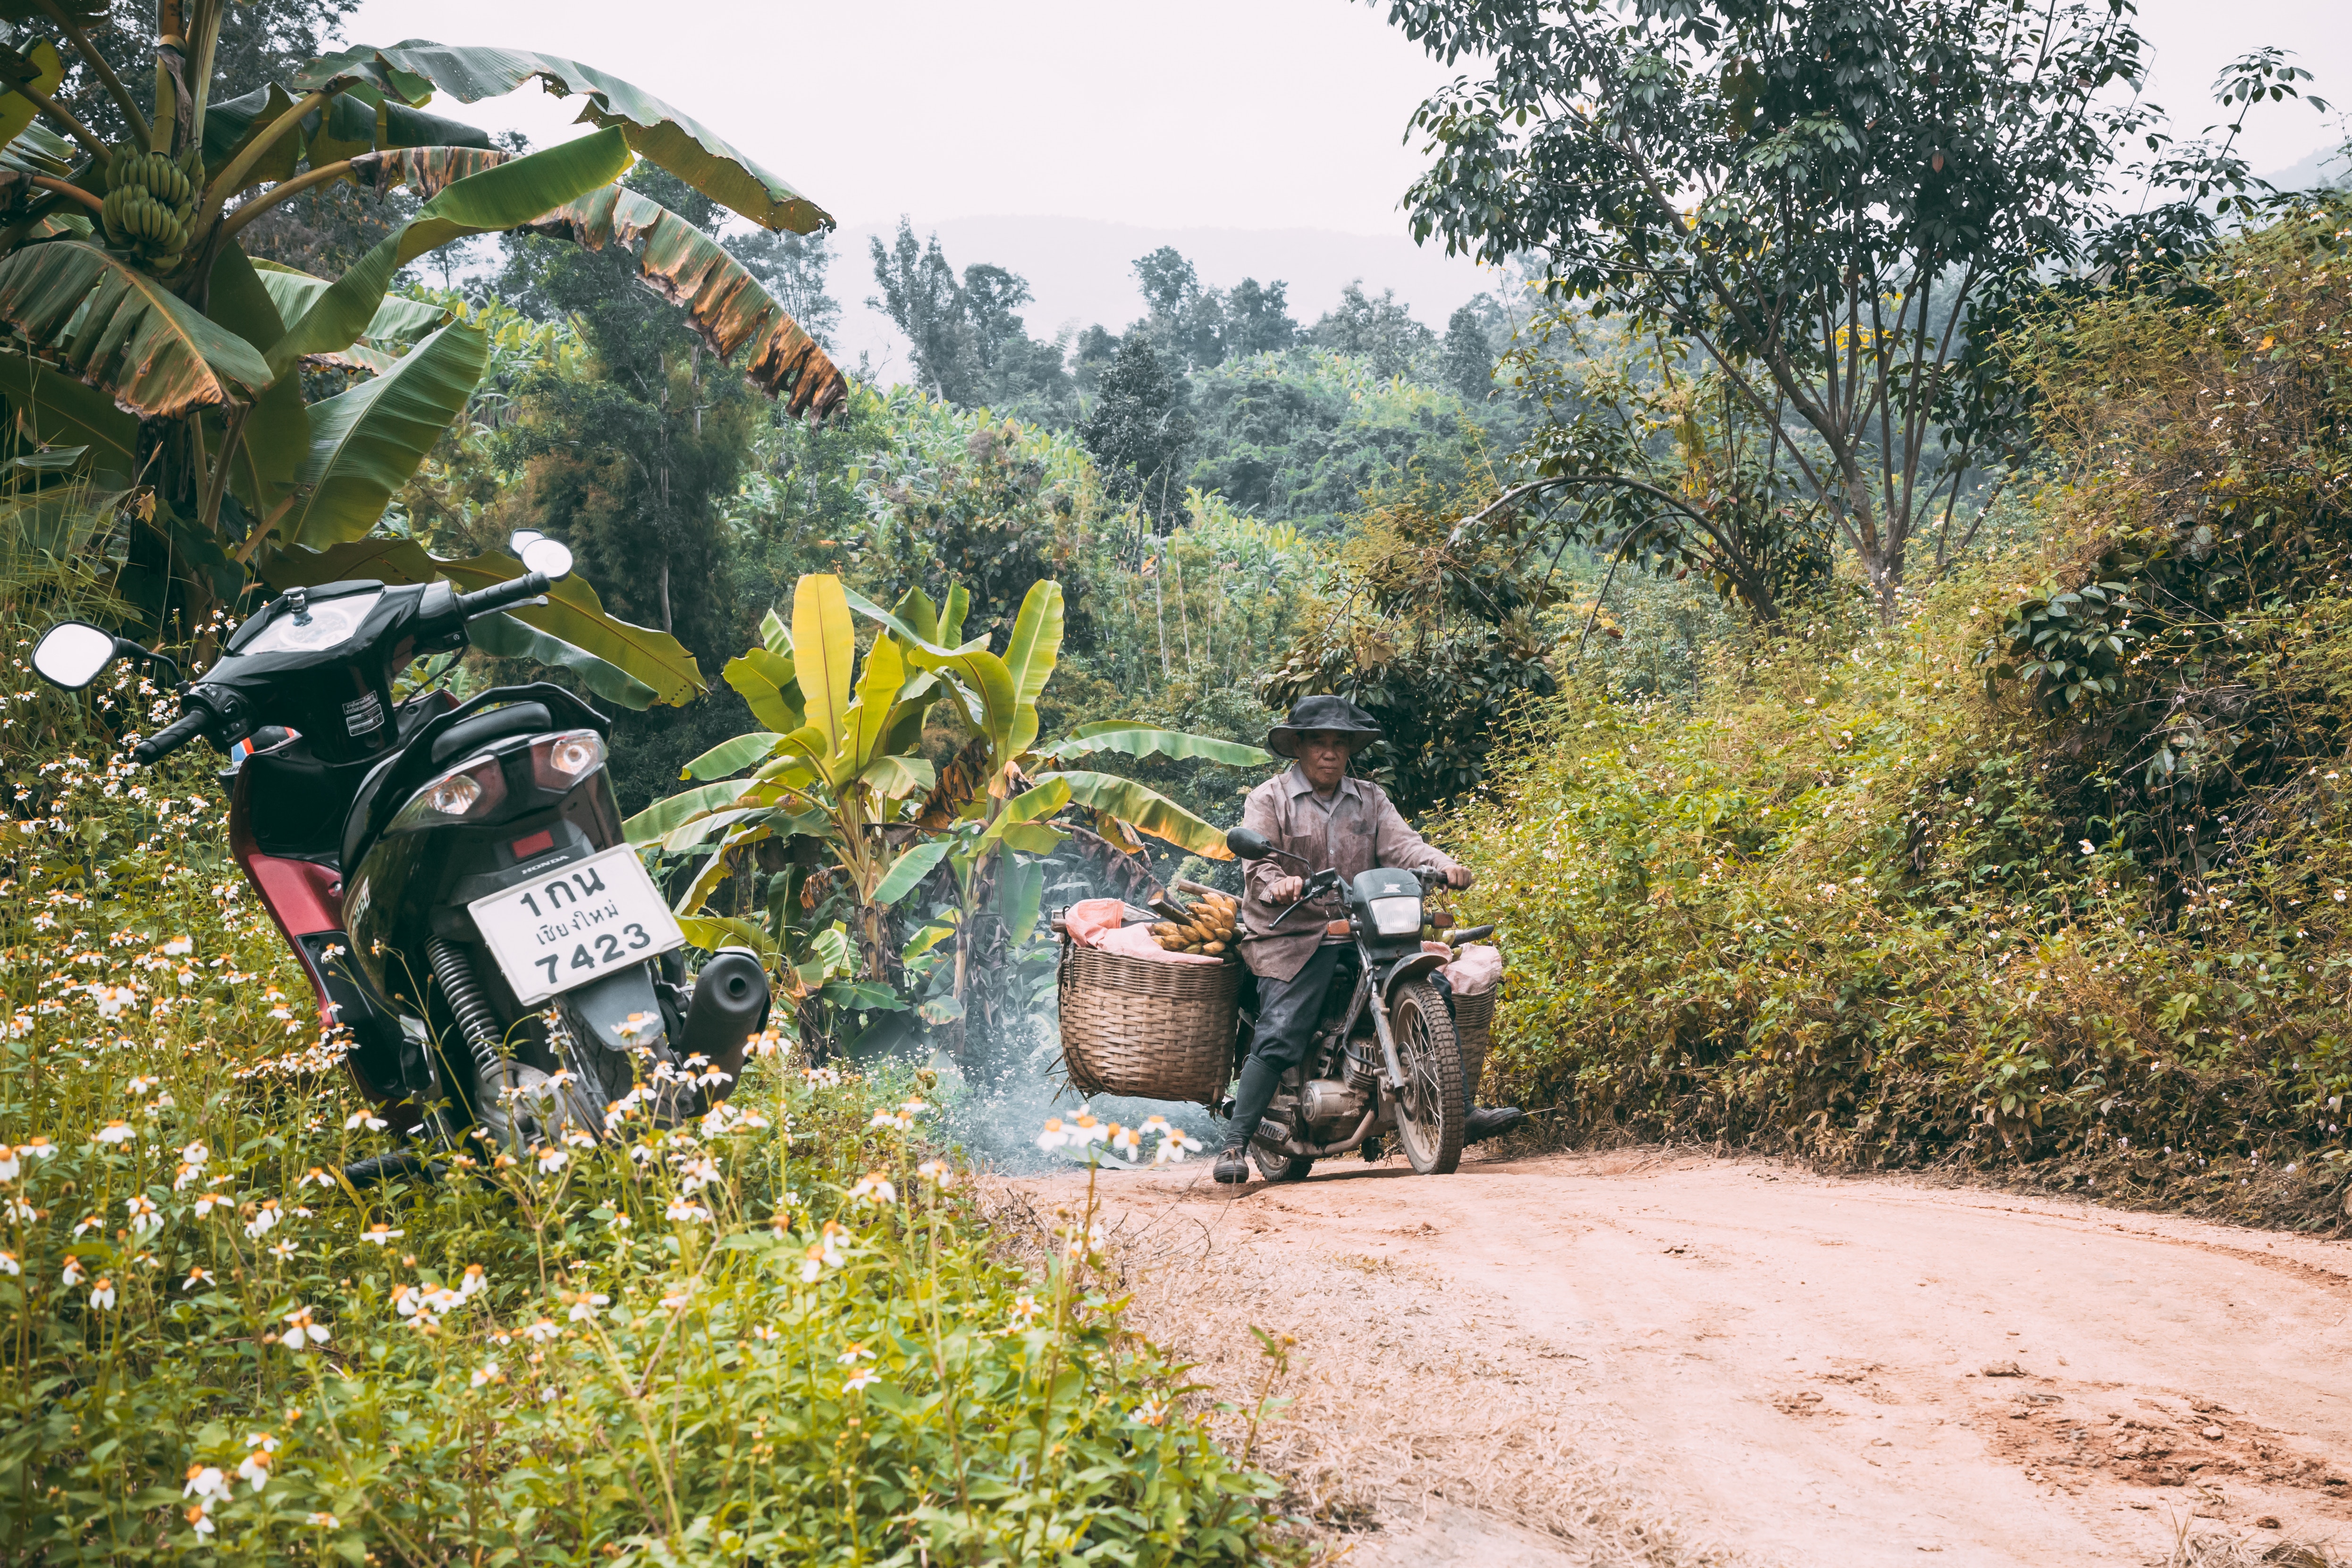
<instances>
[{"instance_id":1,"label":"small yellow-green banana tree between parked scooter and riding man","mask_svg":"<svg viewBox=\"0 0 2352 1568\"><path fill-rule=\"evenodd\" d=\"M1068 839L1058 825L1065 811L1082 809L1120 846L1141 849L1136 835L1150 835L1230 858L1218 827L1157 790L1070 762L1124 752L1263 766L1265 752L1129 719L1084 724L1040 745L1037 698L1061 658L1061 585L1040 581L1028 590L1002 654L988 649L988 637L957 642L964 607L960 585L948 590L946 607L908 590L894 609L882 609L840 578L800 578L793 625L771 611L764 646L727 665L727 682L769 729L703 752L684 769L696 788L628 823L630 842L668 853L703 853L715 842L677 900L682 917L701 914L736 849L769 835L814 837L851 886L861 976L882 980L891 957L887 912L946 865L955 907L917 931L901 957L955 938L948 994L924 1009L929 1023L948 1023L964 1011L981 914L1002 922L1011 947L1030 940L1044 893L1035 858ZM849 696L851 614L877 625L856 698ZM915 755L934 705L950 708L967 736L943 771ZM858 708L863 717L849 722ZM779 900L767 945L783 940L783 914ZM746 940L736 924L703 931Z\"/></svg>"}]
</instances>

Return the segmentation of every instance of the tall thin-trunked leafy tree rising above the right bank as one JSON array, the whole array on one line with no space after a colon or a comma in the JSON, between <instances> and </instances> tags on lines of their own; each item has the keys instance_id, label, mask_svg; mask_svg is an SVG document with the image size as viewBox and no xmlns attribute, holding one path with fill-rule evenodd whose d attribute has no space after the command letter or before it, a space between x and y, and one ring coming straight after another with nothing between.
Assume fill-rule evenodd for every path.
<instances>
[{"instance_id":1,"label":"tall thin-trunked leafy tree rising above the right bank","mask_svg":"<svg viewBox=\"0 0 2352 1568\"><path fill-rule=\"evenodd\" d=\"M2211 230L2206 197L2249 186L2227 143L2171 148L2150 174L2180 200L2119 221L2124 143L2161 115L2131 16L1390 0L1439 61L1475 61L1414 115L1435 153L1414 233L1498 266L1534 254L1562 299L1696 346L1893 616L1912 541L1940 517L1943 569L1966 480L2011 449L2013 400L1959 374L1971 310L2053 263L2178 256ZM2244 106L2303 75L2265 52L2225 92Z\"/></svg>"}]
</instances>

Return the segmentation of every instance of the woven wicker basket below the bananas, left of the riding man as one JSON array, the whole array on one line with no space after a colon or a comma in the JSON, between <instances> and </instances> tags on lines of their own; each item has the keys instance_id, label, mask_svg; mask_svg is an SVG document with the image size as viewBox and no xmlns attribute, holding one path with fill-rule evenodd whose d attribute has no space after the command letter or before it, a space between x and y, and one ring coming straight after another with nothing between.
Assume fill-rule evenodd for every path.
<instances>
[{"instance_id":1,"label":"woven wicker basket below the bananas, left of the riding man","mask_svg":"<svg viewBox=\"0 0 2352 1568\"><path fill-rule=\"evenodd\" d=\"M1063 945L1061 1060L1080 1093L1214 1105L1232 1077L1240 964Z\"/></svg>"}]
</instances>

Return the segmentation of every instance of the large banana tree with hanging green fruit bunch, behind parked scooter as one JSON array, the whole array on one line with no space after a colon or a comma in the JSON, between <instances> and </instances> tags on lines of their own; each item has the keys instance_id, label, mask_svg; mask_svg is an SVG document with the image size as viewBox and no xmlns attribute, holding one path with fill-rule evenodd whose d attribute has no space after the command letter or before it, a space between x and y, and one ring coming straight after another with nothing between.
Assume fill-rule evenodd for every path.
<instances>
[{"instance_id":1,"label":"large banana tree with hanging green fruit bunch, behind parked scooter","mask_svg":"<svg viewBox=\"0 0 2352 1568\"><path fill-rule=\"evenodd\" d=\"M80 449L85 473L120 480L101 489L136 491L122 588L158 628L169 616L200 628L249 574L303 581L367 538L466 409L485 360L480 327L393 296L393 280L468 235L623 244L637 275L793 414L823 416L847 395L823 350L717 242L614 186L647 158L767 228L833 223L691 118L579 61L421 40L346 49L214 103L223 9L160 2L155 82L141 96L89 40L108 19L96 0L0 7L26 24L0 42L0 402L21 442ZM68 61L103 87L127 141L108 146L59 101ZM423 110L437 92L473 103L534 80L581 96L595 129L508 158L480 129ZM247 223L332 181L379 197L407 188L419 207L339 277L247 256ZM308 400L306 367L355 383ZM703 689L668 637L597 607L572 611L586 642L532 632L562 642L560 663L586 670L619 651L604 686L661 701Z\"/></svg>"}]
</instances>

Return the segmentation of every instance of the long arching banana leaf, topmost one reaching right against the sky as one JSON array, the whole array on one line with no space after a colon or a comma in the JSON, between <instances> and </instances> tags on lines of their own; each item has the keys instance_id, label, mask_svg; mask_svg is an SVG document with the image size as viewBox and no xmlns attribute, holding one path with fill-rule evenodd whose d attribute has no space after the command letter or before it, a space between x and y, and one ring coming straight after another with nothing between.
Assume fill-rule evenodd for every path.
<instances>
[{"instance_id":1,"label":"long arching banana leaf, topmost one reaching right against the sky","mask_svg":"<svg viewBox=\"0 0 2352 1568\"><path fill-rule=\"evenodd\" d=\"M506 96L534 78L557 96L583 94L588 99L581 108L583 125L619 129L633 153L753 223L797 235L833 228L826 209L699 122L630 82L555 54L463 49L409 38L388 49L360 45L315 59L294 78L294 87L310 92L336 80L374 80L409 103L423 103L433 89L447 92L459 103L480 103Z\"/></svg>"}]
</instances>

